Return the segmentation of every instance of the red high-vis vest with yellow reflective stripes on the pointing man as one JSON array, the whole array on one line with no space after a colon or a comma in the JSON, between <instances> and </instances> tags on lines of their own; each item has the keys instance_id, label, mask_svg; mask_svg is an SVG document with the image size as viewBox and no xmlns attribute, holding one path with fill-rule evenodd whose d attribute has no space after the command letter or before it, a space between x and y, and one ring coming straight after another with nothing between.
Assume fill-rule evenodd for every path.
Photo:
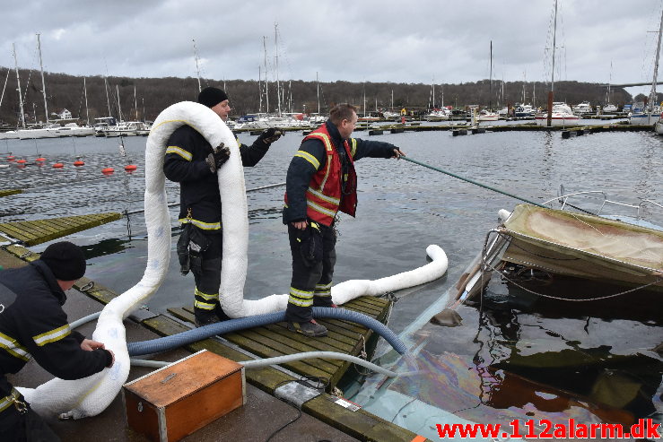
<instances>
[{"instance_id":1,"label":"red high-vis vest with yellow reflective stripes on the pointing man","mask_svg":"<svg viewBox=\"0 0 663 442\"><path fill-rule=\"evenodd\" d=\"M318 129L308 134L302 143L311 139L320 140L325 145L327 160L310 178L309 188L306 191L306 216L312 221L331 226L336 212L341 211L354 216L357 209L357 174L354 171L353 160L354 153L357 151L357 142L351 138L350 143L347 140L343 143L349 168L347 177L342 180L341 159L336 152L331 135L327 131L327 125L319 126ZM301 156L300 152L295 156ZM303 154L307 153L303 152ZM342 195L343 182L345 182L345 188ZM284 199L287 205L287 193Z\"/></svg>"}]
</instances>

